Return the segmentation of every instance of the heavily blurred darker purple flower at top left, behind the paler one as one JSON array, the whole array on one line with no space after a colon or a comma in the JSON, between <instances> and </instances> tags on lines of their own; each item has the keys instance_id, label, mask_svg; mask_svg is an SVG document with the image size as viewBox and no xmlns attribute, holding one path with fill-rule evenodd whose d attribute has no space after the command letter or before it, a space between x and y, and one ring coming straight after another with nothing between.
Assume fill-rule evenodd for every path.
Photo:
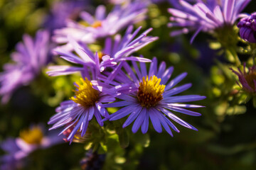
<instances>
[{"instance_id":1,"label":"heavily blurred darker purple flower at top left, behind the paler one","mask_svg":"<svg viewBox=\"0 0 256 170\"><path fill-rule=\"evenodd\" d=\"M67 19L76 19L80 11L85 8L87 1L64 0L56 1L51 8L50 15L46 18L45 27L50 30L63 28L66 26Z\"/></svg>"}]
</instances>

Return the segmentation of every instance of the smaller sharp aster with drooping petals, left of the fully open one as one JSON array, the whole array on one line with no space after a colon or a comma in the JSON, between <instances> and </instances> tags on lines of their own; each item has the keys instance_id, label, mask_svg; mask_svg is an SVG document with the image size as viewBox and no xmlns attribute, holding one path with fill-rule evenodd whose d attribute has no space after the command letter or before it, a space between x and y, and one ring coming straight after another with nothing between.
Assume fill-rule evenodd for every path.
<instances>
[{"instance_id":1,"label":"smaller sharp aster with drooping petals, left of the fully open one","mask_svg":"<svg viewBox=\"0 0 256 170\"><path fill-rule=\"evenodd\" d=\"M102 126L102 116L109 117L105 108L102 108L102 103L115 100L114 96L112 96L114 91L108 89L109 85L90 81L87 78L81 78L80 81L81 83L75 83L77 88L75 96L71 97L69 101L60 103L60 106L55 110L57 114L53 115L48 122L49 125L54 124L49 130L65 126L60 134L68 134L65 140L70 141L70 144L73 142L74 137L83 137L85 135L89 122L93 117ZM97 84L97 90L93 89L95 84Z\"/></svg>"}]
</instances>

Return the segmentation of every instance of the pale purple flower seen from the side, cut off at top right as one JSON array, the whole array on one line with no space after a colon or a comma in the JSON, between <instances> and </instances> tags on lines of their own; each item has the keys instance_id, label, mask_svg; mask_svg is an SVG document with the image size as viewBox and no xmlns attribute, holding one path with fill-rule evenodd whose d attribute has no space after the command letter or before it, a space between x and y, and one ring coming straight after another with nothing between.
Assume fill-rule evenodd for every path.
<instances>
[{"instance_id":1,"label":"pale purple flower seen from the side, cut off at top right","mask_svg":"<svg viewBox=\"0 0 256 170\"><path fill-rule=\"evenodd\" d=\"M171 36L181 33L196 31L195 36L200 32L213 32L223 26L233 26L235 21L245 14L240 13L250 0L220 0L207 1L206 3L197 0L196 4L190 4L185 0L179 0L181 10L169 8L171 13L169 27L178 27L180 30L171 32ZM193 41L193 38L191 41Z\"/></svg>"}]
</instances>

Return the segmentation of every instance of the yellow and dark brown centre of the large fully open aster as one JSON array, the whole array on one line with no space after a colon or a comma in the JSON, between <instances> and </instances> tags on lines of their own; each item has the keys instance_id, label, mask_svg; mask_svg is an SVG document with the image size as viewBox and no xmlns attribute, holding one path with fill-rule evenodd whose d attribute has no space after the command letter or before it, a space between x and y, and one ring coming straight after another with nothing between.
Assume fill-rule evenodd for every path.
<instances>
[{"instance_id":1,"label":"yellow and dark brown centre of the large fully open aster","mask_svg":"<svg viewBox=\"0 0 256 170\"><path fill-rule=\"evenodd\" d=\"M142 78L142 82L139 83L139 91L137 98L142 107L150 108L156 106L161 99L163 99L163 93L165 85L160 85L161 79L156 76L146 76Z\"/></svg>"}]
</instances>

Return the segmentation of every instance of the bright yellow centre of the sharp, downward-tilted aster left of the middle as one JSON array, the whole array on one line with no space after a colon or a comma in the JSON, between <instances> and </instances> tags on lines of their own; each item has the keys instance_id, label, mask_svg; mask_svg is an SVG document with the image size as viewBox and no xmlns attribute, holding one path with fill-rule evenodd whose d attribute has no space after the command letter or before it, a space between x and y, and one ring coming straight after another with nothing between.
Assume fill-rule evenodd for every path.
<instances>
[{"instance_id":1,"label":"bright yellow centre of the sharp, downward-tilted aster left of the middle","mask_svg":"<svg viewBox=\"0 0 256 170\"><path fill-rule=\"evenodd\" d=\"M87 79L80 79L82 84L75 82L78 86L75 87L78 91L75 92L75 97L71 97L70 100L75 101L75 103L84 106L85 108L90 107L95 104L99 99L99 92L92 88L92 83Z\"/></svg>"}]
</instances>

